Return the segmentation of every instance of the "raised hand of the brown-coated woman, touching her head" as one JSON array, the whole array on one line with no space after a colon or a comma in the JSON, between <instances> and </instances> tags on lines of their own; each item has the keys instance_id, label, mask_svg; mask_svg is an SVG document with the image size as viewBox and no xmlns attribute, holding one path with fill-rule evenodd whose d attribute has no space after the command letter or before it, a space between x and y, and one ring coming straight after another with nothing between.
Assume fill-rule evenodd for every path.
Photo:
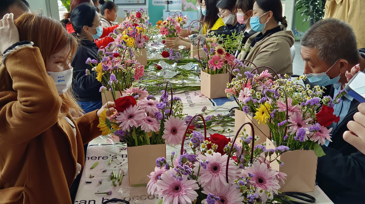
<instances>
[{"instance_id":1,"label":"raised hand of the brown-coated woman, touching her head","mask_svg":"<svg viewBox=\"0 0 365 204\"><path fill-rule=\"evenodd\" d=\"M5 14L4 18L0 20L0 52L2 54L11 45L19 42L19 31L13 18L13 14Z\"/></svg>"}]
</instances>

